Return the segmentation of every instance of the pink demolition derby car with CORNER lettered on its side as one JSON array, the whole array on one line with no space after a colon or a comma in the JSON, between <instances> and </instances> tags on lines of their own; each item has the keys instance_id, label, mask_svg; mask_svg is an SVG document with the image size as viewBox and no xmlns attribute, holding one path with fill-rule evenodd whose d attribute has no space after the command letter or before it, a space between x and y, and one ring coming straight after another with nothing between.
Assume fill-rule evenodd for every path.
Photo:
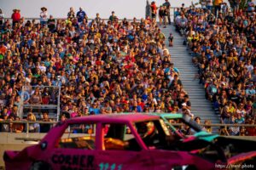
<instances>
[{"instance_id":1,"label":"pink demolition derby car with CORNER lettered on its side","mask_svg":"<svg viewBox=\"0 0 256 170\"><path fill-rule=\"evenodd\" d=\"M59 122L39 144L5 151L3 159L7 170L216 168L197 150L170 150L174 141L159 116L84 116Z\"/></svg>"}]
</instances>

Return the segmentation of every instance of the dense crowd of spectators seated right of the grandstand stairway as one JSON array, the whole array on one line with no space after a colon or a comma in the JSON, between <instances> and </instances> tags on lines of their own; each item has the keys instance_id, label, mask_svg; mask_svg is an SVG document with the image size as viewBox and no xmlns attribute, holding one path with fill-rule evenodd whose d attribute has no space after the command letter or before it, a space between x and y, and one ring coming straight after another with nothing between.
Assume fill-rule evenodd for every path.
<instances>
[{"instance_id":1,"label":"dense crowd of spectators seated right of the grandstand stairway","mask_svg":"<svg viewBox=\"0 0 256 170\"><path fill-rule=\"evenodd\" d=\"M216 12L211 8L191 7L176 12L177 31L185 29L184 45L198 67L196 77L223 123L255 124L254 7L248 1L247 8L239 10L226 8ZM256 135L256 127L230 127L221 129L221 133Z\"/></svg>"}]
</instances>

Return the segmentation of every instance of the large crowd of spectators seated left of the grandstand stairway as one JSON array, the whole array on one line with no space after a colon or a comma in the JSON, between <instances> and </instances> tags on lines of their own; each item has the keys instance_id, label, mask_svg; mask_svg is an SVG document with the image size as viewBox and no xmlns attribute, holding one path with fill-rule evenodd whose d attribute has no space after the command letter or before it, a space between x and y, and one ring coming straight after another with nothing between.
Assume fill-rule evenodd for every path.
<instances>
[{"instance_id":1,"label":"large crowd of spectators seated left of the grandstand stairway","mask_svg":"<svg viewBox=\"0 0 256 170\"><path fill-rule=\"evenodd\" d=\"M44 86L59 86L61 120L122 112L190 114L189 96L155 20L119 20L114 11L108 20L99 14L88 20L83 8L77 14L70 8L67 20L55 20L47 8L41 10L40 20L25 20L15 9L0 26L2 120L56 118L46 111L19 117L22 86L24 101L36 105L55 104ZM24 129L3 125L4 132ZM32 123L29 131L45 132L42 126Z\"/></svg>"}]
</instances>

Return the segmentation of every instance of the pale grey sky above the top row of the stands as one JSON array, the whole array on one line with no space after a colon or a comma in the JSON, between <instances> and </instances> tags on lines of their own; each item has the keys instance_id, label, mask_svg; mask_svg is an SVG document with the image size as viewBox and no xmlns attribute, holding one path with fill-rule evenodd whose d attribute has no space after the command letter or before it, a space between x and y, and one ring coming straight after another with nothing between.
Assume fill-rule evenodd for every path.
<instances>
[{"instance_id":1,"label":"pale grey sky above the top row of the stands","mask_svg":"<svg viewBox=\"0 0 256 170\"><path fill-rule=\"evenodd\" d=\"M164 3L165 0L154 0L157 5ZM149 0L151 2L151 0ZM189 0L169 0L172 7L180 7L182 3L189 7ZM195 3L195 1L193 1ZM0 0L0 8L3 10L5 17L10 17L13 8L20 8L21 16L38 18L41 7L48 8L48 14L55 18L67 17L70 7L83 7L89 18L95 18L96 13L102 17L108 18L111 11L120 18L126 17L140 19L145 17L146 0Z\"/></svg>"}]
</instances>

